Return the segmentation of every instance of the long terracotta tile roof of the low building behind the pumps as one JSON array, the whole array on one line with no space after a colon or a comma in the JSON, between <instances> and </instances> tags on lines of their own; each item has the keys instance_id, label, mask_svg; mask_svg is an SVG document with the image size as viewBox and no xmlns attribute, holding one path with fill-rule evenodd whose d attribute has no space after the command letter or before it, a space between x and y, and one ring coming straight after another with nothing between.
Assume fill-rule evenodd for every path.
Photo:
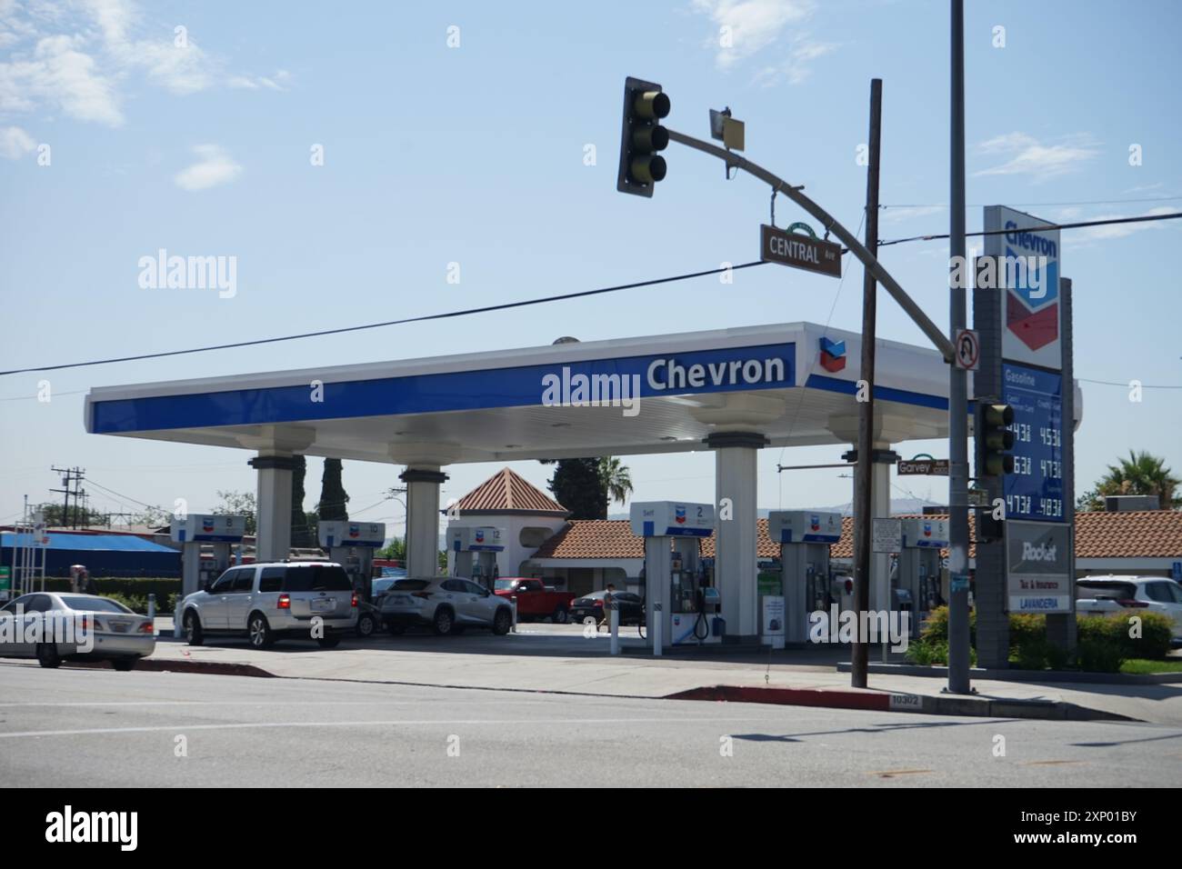
<instances>
[{"instance_id":1,"label":"long terracotta tile roof of the low building behind the pumps","mask_svg":"<svg viewBox=\"0 0 1182 869\"><path fill-rule=\"evenodd\" d=\"M900 518L918 518L910 513ZM947 519L947 515L933 518ZM969 558L976 556L974 515L968 515ZM759 558L777 558L778 544L767 536L767 520L756 521ZM702 556L714 557L714 537L702 538ZM947 550L942 551L947 556ZM632 534L626 519L577 519L543 544L534 558L643 558L644 538ZM842 518L842 539L831 558L853 558L853 518ZM1077 513L1077 558L1182 558L1182 512Z\"/></svg>"}]
</instances>

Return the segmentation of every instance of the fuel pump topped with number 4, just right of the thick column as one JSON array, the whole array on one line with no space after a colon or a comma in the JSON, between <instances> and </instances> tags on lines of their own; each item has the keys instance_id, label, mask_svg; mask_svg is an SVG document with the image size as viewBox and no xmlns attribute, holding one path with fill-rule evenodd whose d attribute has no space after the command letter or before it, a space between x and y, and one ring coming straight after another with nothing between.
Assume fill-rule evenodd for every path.
<instances>
[{"instance_id":1,"label":"fuel pump topped with number 4, just right of the thick column","mask_svg":"<svg viewBox=\"0 0 1182 869\"><path fill-rule=\"evenodd\" d=\"M829 547L842 538L842 514L816 510L773 510L767 533L780 544L784 571L785 642L804 643L808 614L829 612L834 597L829 576Z\"/></svg>"}]
</instances>

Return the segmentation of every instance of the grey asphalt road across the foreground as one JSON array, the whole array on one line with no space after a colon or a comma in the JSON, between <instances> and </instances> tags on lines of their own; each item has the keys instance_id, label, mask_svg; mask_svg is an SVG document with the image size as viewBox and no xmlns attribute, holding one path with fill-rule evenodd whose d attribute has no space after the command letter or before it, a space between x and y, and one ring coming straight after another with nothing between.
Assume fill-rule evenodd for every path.
<instances>
[{"instance_id":1,"label":"grey asphalt road across the foreground","mask_svg":"<svg viewBox=\"0 0 1182 869\"><path fill-rule=\"evenodd\" d=\"M1147 787L1180 778L1182 729L1157 725L0 661L0 785L8 787Z\"/></svg>"}]
</instances>

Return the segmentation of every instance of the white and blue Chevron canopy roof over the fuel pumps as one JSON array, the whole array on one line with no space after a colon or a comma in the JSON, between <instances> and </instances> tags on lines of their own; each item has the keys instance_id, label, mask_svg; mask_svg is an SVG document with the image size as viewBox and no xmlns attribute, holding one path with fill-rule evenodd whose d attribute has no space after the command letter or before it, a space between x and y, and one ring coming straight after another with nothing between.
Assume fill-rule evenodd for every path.
<instances>
[{"instance_id":1,"label":"white and blue Chevron canopy roof over the fuel pumps","mask_svg":"<svg viewBox=\"0 0 1182 869\"><path fill-rule=\"evenodd\" d=\"M727 430L774 447L847 445L859 352L857 333L808 323L572 342L102 387L85 422L95 434L398 465L677 453ZM940 355L889 341L876 352L876 439L947 436Z\"/></svg>"}]
</instances>

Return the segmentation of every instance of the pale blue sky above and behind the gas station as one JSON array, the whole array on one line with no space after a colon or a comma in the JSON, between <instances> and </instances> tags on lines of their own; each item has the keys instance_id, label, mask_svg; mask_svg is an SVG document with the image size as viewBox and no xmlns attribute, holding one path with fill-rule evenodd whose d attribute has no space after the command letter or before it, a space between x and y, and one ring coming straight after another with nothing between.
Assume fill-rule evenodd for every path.
<instances>
[{"instance_id":1,"label":"pale blue sky above and behind the gas station","mask_svg":"<svg viewBox=\"0 0 1182 869\"><path fill-rule=\"evenodd\" d=\"M1144 0L967 4L969 229L1005 203L1052 220L1182 209L1176 35L1182 7ZM615 190L628 74L661 82L669 124L707 110L747 123L747 155L859 223L872 77L884 79L884 239L948 228L948 4L677 0L569 4L142 4L0 0L0 368L251 339L591 288L758 255L767 189L684 149L651 200ZM643 22L644 32L636 30ZM1005 28L996 47L995 27ZM187 46L177 47L177 27ZM449 27L459 46L449 47ZM720 34L729 28L729 47ZM455 31L453 31L455 33ZM454 39L453 39L454 41ZM596 164L584 162L596 148ZM1129 148L1141 145L1141 166ZM48 145L50 164L38 157ZM324 166L312 166L323 145ZM1168 199L1173 197L1173 199ZM1096 200L1152 200L1059 205ZM780 201L778 222L801 219ZM1067 231L1076 374L1085 378L1077 486L1130 448L1182 472L1177 339L1182 221ZM970 245L973 242L970 241ZM980 242L978 242L980 244ZM158 248L238 258L238 292L145 290ZM947 242L883 261L947 323ZM448 284L459 262L460 284ZM92 506L213 506L253 489L246 452L86 435L91 387L550 343L813 320L857 329L862 270L844 281L764 266L413 328L0 378L0 521L51 498L79 465ZM882 293L879 335L923 343ZM38 381L53 398L35 400ZM904 452L947 454L916 442ZM759 504L847 501L838 471L775 465L840 448L764 450ZM788 461L791 459L791 462ZM630 456L639 499L712 500L708 453ZM396 469L349 463L358 518ZM450 468L444 499L494 466ZM517 466L544 485L550 471ZM319 476L313 460L310 476ZM896 480L895 497L943 498ZM309 506L318 482L309 486ZM53 495L57 499L57 495ZM618 505L612 508L619 510Z\"/></svg>"}]
</instances>

